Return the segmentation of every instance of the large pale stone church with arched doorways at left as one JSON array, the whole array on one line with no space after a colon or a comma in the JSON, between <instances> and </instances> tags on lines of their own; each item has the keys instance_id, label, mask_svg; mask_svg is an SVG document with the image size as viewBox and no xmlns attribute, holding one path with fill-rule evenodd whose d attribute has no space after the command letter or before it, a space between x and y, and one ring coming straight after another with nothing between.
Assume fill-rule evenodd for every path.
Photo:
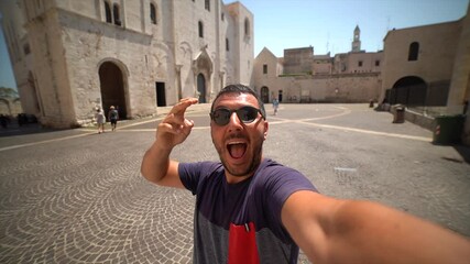
<instances>
[{"instance_id":1,"label":"large pale stone church with arched doorways at left","mask_svg":"<svg viewBox=\"0 0 470 264\"><path fill-rule=\"evenodd\" d=\"M151 116L250 85L253 14L240 2L2 0L0 10L22 107L44 125L84 125L110 106Z\"/></svg>"}]
</instances>

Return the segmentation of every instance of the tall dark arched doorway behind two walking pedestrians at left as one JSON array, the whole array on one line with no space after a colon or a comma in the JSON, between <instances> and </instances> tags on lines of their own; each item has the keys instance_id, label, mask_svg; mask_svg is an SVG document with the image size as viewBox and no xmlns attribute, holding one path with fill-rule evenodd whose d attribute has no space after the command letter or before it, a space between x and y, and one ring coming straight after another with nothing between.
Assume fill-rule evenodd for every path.
<instances>
[{"instance_id":1,"label":"tall dark arched doorway behind two walking pedestrians at left","mask_svg":"<svg viewBox=\"0 0 470 264\"><path fill-rule=\"evenodd\" d=\"M114 106L119 111L119 119L125 119L128 112L121 69L111 62L101 64L99 67L99 81L106 117L108 117L109 107Z\"/></svg>"}]
</instances>

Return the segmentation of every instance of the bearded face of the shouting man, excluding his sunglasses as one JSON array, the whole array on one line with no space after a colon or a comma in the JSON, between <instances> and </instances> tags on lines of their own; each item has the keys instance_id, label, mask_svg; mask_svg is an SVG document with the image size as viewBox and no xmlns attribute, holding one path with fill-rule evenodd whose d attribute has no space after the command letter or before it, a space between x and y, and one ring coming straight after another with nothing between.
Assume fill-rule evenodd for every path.
<instances>
[{"instance_id":1,"label":"bearded face of the shouting man, excluding his sunglasses","mask_svg":"<svg viewBox=\"0 0 470 264\"><path fill-rule=\"evenodd\" d=\"M247 106L259 109L256 98L250 94L225 94L214 103L214 110L237 110ZM251 123L243 123L236 112L226 125L211 120L210 133L226 168L227 180L238 183L252 176L261 163L263 142L267 136L267 122L261 114L258 113Z\"/></svg>"}]
</instances>

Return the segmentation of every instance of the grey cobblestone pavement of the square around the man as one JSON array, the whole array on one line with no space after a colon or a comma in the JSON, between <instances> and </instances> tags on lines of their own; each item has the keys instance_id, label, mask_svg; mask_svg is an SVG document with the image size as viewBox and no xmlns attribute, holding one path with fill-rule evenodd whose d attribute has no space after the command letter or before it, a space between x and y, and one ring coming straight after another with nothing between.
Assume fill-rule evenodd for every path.
<instances>
[{"instance_id":1,"label":"grey cobblestone pavement of the square around the man","mask_svg":"<svg viewBox=\"0 0 470 264\"><path fill-rule=\"evenodd\" d=\"M196 127L173 158L218 161L208 108L190 108ZM266 109L265 156L321 193L375 200L470 235L468 147L434 145L431 132L394 124L368 105ZM103 134L0 134L0 263L190 263L194 197L140 175L160 119L119 122Z\"/></svg>"}]
</instances>

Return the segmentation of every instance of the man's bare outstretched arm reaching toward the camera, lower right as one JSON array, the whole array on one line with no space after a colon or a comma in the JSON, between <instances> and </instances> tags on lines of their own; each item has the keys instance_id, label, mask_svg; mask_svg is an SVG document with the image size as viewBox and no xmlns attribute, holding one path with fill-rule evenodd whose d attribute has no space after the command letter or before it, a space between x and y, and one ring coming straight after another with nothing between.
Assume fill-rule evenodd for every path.
<instances>
[{"instance_id":1,"label":"man's bare outstretched arm reaching toward the camera, lower right","mask_svg":"<svg viewBox=\"0 0 470 264\"><path fill-rule=\"evenodd\" d=\"M297 191L282 221L314 263L470 263L468 238L376 202Z\"/></svg>"}]
</instances>

